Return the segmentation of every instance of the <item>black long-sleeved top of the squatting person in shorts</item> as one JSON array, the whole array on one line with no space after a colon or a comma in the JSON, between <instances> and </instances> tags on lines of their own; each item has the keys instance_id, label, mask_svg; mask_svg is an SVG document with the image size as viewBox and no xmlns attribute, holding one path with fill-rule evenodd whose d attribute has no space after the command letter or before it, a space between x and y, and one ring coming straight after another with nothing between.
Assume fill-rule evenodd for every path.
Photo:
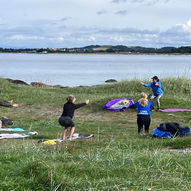
<instances>
[{"instance_id":1,"label":"black long-sleeved top of the squatting person in shorts","mask_svg":"<svg viewBox=\"0 0 191 191\"><path fill-rule=\"evenodd\" d=\"M85 105L86 103L74 104L72 102L67 102L64 104L62 116L69 116L73 118L75 109L78 109Z\"/></svg>"}]
</instances>

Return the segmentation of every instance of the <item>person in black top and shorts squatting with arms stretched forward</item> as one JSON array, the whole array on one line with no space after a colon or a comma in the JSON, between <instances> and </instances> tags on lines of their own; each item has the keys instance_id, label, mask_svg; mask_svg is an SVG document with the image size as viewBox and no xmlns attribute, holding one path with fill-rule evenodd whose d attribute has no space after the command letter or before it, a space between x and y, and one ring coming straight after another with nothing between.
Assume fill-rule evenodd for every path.
<instances>
[{"instance_id":1,"label":"person in black top and shorts squatting with arms stretched forward","mask_svg":"<svg viewBox=\"0 0 191 191\"><path fill-rule=\"evenodd\" d=\"M66 98L66 100L67 102L64 104L63 113L59 118L58 122L62 127L64 127L62 139L66 140L66 133L68 131L68 127L71 127L69 139L72 140L72 135L75 131L75 124L72 121L72 118L74 116L74 111L80 107L89 104L89 100L86 100L85 103L74 104L76 98L73 95L69 95Z\"/></svg>"}]
</instances>

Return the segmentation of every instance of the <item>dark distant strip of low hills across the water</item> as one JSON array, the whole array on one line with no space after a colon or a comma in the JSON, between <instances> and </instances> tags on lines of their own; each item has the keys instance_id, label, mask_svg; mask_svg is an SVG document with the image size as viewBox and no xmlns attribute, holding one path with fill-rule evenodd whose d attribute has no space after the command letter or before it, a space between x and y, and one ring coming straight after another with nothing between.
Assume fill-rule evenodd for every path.
<instances>
[{"instance_id":1,"label":"dark distant strip of low hills across the water","mask_svg":"<svg viewBox=\"0 0 191 191\"><path fill-rule=\"evenodd\" d=\"M80 48L0 48L0 53L124 53L124 54L191 54L191 46L148 48L141 46L100 46L90 45Z\"/></svg>"}]
</instances>

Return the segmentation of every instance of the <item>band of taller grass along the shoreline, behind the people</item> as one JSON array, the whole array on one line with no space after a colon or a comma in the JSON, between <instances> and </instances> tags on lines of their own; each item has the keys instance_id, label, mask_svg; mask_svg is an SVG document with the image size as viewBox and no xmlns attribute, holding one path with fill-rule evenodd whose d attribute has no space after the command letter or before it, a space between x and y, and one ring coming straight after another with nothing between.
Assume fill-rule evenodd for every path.
<instances>
[{"instance_id":1,"label":"band of taller grass along the shoreline, behind the people","mask_svg":"<svg viewBox=\"0 0 191 191\"><path fill-rule=\"evenodd\" d=\"M149 83L148 81L146 81ZM164 94L189 98L191 93L191 80L186 78L165 78L161 80ZM138 80L124 80L119 83L97 85L78 88L36 88L17 87L4 79L0 79L2 99L14 99L16 102L26 104L59 105L65 101L68 94L75 94L79 101L90 98L93 101L104 100L111 97L133 96L138 97L142 91L150 94L150 88L140 85Z\"/></svg>"}]
</instances>

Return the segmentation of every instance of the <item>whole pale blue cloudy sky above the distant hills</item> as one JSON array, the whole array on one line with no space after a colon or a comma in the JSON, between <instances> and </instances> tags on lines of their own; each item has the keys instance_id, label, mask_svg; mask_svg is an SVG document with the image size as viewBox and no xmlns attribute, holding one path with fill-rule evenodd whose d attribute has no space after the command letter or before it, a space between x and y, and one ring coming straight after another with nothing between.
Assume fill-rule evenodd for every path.
<instances>
[{"instance_id":1,"label":"whole pale blue cloudy sky above the distant hills","mask_svg":"<svg viewBox=\"0 0 191 191\"><path fill-rule=\"evenodd\" d=\"M0 47L191 46L191 0L0 0Z\"/></svg>"}]
</instances>

